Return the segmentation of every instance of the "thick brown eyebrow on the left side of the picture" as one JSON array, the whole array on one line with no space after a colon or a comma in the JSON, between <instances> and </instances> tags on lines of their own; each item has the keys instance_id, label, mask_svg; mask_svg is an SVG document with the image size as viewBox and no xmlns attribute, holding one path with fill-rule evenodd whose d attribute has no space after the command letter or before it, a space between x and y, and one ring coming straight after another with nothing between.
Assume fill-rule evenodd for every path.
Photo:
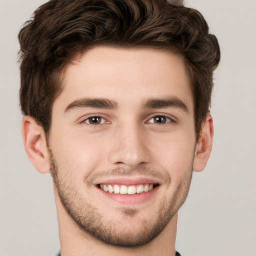
<instances>
[{"instance_id":1,"label":"thick brown eyebrow on the left side of the picture","mask_svg":"<svg viewBox=\"0 0 256 256\"><path fill-rule=\"evenodd\" d=\"M75 108L83 107L94 107L94 108L107 108L107 109L116 109L117 102L107 98L80 98L71 102L64 112Z\"/></svg>"}]
</instances>

